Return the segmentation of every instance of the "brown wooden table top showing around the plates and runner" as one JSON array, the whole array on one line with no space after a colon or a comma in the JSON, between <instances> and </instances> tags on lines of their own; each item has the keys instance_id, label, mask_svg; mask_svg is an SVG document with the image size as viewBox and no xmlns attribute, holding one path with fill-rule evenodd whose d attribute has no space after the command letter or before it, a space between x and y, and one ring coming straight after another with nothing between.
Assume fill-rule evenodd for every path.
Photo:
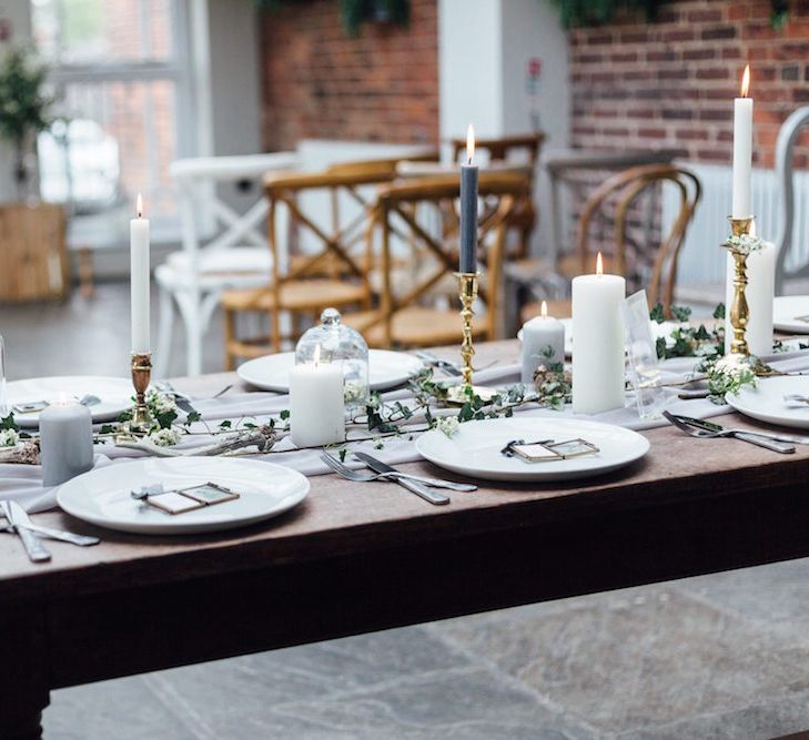
<instances>
[{"instance_id":1,"label":"brown wooden table top showing around the plates and runner","mask_svg":"<svg viewBox=\"0 0 809 740\"><path fill-rule=\"evenodd\" d=\"M477 361L516 361L515 342L481 345ZM446 354L446 353L445 353ZM451 355L449 355L451 356ZM179 381L194 393L219 389L235 375ZM756 428L731 414L720 423ZM371 555L397 546L417 547L464 535L506 531L543 521L575 521L620 510L661 508L673 503L707 501L809 481L809 446L778 455L732 439L699 440L671 428L644 432L649 454L624 470L569 484L483 483L471 494L451 493L452 504L435 507L396 486L356 484L334 475L311 478L304 504L286 515L227 533L153 537L102 530L65 514L36 515L37 521L97 534L97 547L49 541L53 559L33 565L14 537L0 537L0 605L64 595L201 578L229 571L267 568L337 555ZM446 477L426 462L403 465L411 473ZM461 478L458 478L461 479Z\"/></svg>"}]
</instances>

